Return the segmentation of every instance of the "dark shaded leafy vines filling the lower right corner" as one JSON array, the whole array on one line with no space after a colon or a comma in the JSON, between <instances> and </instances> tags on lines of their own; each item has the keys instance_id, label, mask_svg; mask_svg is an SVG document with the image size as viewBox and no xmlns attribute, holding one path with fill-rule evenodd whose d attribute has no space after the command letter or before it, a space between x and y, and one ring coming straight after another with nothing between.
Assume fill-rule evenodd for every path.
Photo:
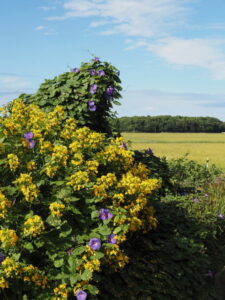
<instances>
[{"instance_id":1,"label":"dark shaded leafy vines filling the lower right corner","mask_svg":"<svg viewBox=\"0 0 225 300\"><path fill-rule=\"evenodd\" d=\"M167 196L154 205L157 229L126 243L132 259L123 270L104 269L99 299L216 299L214 275L225 261L224 219L203 206L200 216L190 196Z\"/></svg>"}]
</instances>

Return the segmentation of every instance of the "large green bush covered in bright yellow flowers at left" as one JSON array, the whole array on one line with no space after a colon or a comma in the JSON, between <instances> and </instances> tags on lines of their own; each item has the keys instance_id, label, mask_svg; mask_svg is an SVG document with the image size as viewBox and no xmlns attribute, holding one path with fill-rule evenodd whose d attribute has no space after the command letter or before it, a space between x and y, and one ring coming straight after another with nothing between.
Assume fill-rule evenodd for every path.
<instances>
[{"instance_id":1,"label":"large green bush covered in bright yellow flowers at left","mask_svg":"<svg viewBox=\"0 0 225 300\"><path fill-rule=\"evenodd\" d=\"M77 127L61 106L2 109L0 165L1 299L97 299L97 272L123 268L124 242L157 225L159 180L122 138Z\"/></svg>"}]
</instances>

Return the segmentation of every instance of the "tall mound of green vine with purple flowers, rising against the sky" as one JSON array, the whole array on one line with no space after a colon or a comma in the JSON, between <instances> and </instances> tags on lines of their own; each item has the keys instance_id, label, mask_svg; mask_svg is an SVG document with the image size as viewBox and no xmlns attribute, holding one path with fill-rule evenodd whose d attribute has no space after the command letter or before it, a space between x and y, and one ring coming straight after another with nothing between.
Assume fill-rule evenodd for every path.
<instances>
[{"instance_id":1,"label":"tall mound of green vine with purple flowers, rising against the sky","mask_svg":"<svg viewBox=\"0 0 225 300\"><path fill-rule=\"evenodd\" d=\"M26 104L36 104L45 112L62 105L77 126L111 133L109 120L113 104L121 97L119 71L108 62L94 58L53 79L45 80L33 95L22 94Z\"/></svg>"}]
</instances>

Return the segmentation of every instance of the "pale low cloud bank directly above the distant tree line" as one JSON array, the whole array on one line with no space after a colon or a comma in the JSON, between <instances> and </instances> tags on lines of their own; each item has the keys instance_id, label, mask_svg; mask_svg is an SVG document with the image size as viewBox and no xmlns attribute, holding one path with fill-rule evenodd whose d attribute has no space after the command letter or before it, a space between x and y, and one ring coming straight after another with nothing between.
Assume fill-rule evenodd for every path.
<instances>
[{"instance_id":1,"label":"pale low cloud bank directly above the distant tree line","mask_svg":"<svg viewBox=\"0 0 225 300\"><path fill-rule=\"evenodd\" d=\"M115 106L118 116L185 115L211 116L225 121L224 95L170 93L157 90L127 90L122 106Z\"/></svg>"}]
</instances>

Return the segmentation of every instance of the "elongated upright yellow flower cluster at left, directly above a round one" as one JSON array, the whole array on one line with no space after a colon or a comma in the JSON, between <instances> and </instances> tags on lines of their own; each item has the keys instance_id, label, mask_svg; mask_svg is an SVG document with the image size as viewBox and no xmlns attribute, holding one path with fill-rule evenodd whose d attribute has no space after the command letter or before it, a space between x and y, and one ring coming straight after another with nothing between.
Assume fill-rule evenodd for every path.
<instances>
[{"instance_id":1,"label":"elongated upright yellow flower cluster at left, directly above a round one","mask_svg":"<svg viewBox=\"0 0 225 300\"><path fill-rule=\"evenodd\" d=\"M32 183L32 177L29 174L21 173L20 177L16 179L16 184L19 184L19 188L23 195L25 196L25 200L32 202L39 195L39 190L36 185Z\"/></svg>"}]
</instances>

